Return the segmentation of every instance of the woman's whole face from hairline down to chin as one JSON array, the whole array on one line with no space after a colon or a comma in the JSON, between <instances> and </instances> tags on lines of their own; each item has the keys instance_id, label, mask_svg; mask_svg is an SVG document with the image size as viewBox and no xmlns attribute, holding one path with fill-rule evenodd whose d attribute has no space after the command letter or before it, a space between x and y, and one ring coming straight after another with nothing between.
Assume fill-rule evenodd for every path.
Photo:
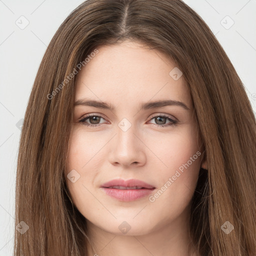
<instances>
[{"instance_id":1,"label":"woman's whole face from hairline down to chin","mask_svg":"<svg viewBox=\"0 0 256 256\"><path fill-rule=\"evenodd\" d=\"M73 203L89 226L114 234L187 218L202 152L181 71L139 42L97 50L77 77L66 170Z\"/></svg>"}]
</instances>

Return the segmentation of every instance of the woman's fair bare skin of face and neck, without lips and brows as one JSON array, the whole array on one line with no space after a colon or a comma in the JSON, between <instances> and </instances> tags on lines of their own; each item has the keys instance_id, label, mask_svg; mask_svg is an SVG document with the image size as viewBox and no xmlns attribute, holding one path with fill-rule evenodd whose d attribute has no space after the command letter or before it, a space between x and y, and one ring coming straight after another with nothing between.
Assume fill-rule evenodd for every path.
<instances>
[{"instance_id":1,"label":"woman's fair bare skin of face and neck, without lips and brows","mask_svg":"<svg viewBox=\"0 0 256 256\"><path fill-rule=\"evenodd\" d=\"M178 80L169 75L176 66L172 60L140 42L125 41L97 49L99 52L78 73L75 101L86 97L111 103L115 110L75 106L66 171L75 169L80 175L74 183L67 179L67 186L73 203L86 218L94 246L91 249L88 245L87 253L195 255L188 252L188 218L199 168L206 169L206 161L201 162L198 156L166 188L182 164L197 151L202 153L186 82L182 75ZM163 99L182 101L189 110L169 105L139 111L141 102ZM85 123L100 126L79 122L88 113L102 118L90 118ZM156 119L162 114L177 123L157 126L172 123L167 118ZM123 118L131 124L126 131L118 126ZM114 178L140 179L156 191L165 184L166 189L153 202L149 196L120 201L100 188ZM130 226L126 233L118 228L123 221Z\"/></svg>"}]
</instances>

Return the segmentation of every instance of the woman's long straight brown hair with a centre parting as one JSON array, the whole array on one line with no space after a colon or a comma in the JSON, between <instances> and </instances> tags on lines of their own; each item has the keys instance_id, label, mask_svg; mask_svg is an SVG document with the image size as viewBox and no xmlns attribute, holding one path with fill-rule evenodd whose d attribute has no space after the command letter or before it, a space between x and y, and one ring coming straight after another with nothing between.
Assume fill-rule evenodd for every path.
<instances>
[{"instance_id":1,"label":"woman's long straight brown hair with a centre parting","mask_svg":"<svg viewBox=\"0 0 256 256\"><path fill-rule=\"evenodd\" d=\"M64 175L76 73L99 45L124 40L165 53L189 87L208 165L200 169L191 208L197 254L256 253L255 117L209 27L181 0L86 0L54 34L29 97L15 202L15 226L26 223L28 230L15 230L14 254L86 254L85 219L72 205ZM229 234L221 228L226 221L234 227Z\"/></svg>"}]
</instances>

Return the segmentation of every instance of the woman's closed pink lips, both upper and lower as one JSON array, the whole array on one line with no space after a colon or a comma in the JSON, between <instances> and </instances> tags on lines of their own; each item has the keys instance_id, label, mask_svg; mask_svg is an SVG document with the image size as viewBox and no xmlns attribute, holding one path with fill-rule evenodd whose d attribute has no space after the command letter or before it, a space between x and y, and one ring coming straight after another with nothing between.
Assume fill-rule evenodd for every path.
<instances>
[{"instance_id":1,"label":"woman's closed pink lips, both upper and lower","mask_svg":"<svg viewBox=\"0 0 256 256\"><path fill-rule=\"evenodd\" d=\"M142 188L137 189L118 189L118 188L111 188L111 186L125 186L125 187L132 187L132 186L139 186ZM102 190L109 196L116 198L120 201L134 201L141 197L144 197L150 194L155 187L147 184L144 181L138 179L113 179L110 180L100 186Z\"/></svg>"}]
</instances>

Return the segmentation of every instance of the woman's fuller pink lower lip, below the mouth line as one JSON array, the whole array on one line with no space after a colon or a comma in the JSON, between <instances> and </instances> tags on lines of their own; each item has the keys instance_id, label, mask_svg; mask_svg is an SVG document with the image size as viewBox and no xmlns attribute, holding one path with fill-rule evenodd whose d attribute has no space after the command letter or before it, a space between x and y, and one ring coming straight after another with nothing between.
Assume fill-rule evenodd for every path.
<instances>
[{"instance_id":1,"label":"woman's fuller pink lower lip, below the mouth line","mask_svg":"<svg viewBox=\"0 0 256 256\"><path fill-rule=\"evenodd\" d=\"M152 193L152 191L155 188L141 188L141 189L117 189L117 188L107 188L107 187L101 187L103 189L103 191L115 198L118 199L120 201L134 201L137 200L139 198L142 198L150 193Z\"/></svg>"}]
</instances>

